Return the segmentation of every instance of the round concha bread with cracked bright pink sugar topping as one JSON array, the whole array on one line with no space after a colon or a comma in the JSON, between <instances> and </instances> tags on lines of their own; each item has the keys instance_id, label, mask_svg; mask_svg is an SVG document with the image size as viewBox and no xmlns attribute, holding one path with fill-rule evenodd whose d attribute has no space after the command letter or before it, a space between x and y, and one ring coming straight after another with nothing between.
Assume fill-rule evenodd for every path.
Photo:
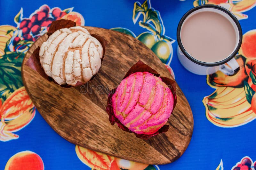
<instances>
[{"instance_id":1,"label":"round concha bread with cracked bright pink sugar topping","mask_svg":"<svg viewBox=\"0 0 256 170\"><path fill-rule=\"evenodd\" d=\"M173 106L172 91L160 77L149 72L129 75L112 96L115 117L137 134L156 133L168 121Z\"/></svg>"}]
</instances>

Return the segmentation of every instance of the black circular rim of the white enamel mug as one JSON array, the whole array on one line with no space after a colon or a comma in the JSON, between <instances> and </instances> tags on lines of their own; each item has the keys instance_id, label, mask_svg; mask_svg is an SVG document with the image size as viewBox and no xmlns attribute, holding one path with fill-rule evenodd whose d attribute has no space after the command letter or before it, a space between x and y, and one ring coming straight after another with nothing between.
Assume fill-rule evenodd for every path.
<instances>
[{"instance_id":1,"label":"black circular rim of the white enamel mug","mask_svg":"<svg viewBox=\"0 0 256 170\"><path fill-rule=\"evenodd\" d=\"M227 13L232 19L233 21L236 23L236 26L238 28L238 32L239 32L239 42L238 42L238 45L236 46L236 49L235 51L230 55L228 56L226 59L224 60L221 60L221 61L218 61L218 62L214 62L214 63L206 63L206 62L203 62L203 61L199 61L199 60L196 60L195 58L193 58L191 55L188 54L188 52L185 50L184 46L182 45L181 43L181 38L180 38L180 30L181 30L181 26L183 24L183 22L185 21L185 19L194 11L196 10L199 10L199 9L202 9L202 8L215 8L217 10L220 10L220 11L223 11L225 13ZM230 11L228 11L227 9L221 7L221 6L218 6L218 5L200 5L200 6L197 6L195 8L192 8L191 10L189 10L188 12L186 12L183 17L180 19L180 22L179 22L179 25L178 25L178 28L177 28L177 41L178 41L178 45L180 47L180 50L182 51L182 53L191 61L201 65L201 66L206 66L206 67L213 67L213 66L219 66L219 65L222 65L222 64L225 64L227 63L229 60L231 60L232 58L234 58L237 54L237 52L239 51L240 49L240 46L242 44L242 39L243 39L243 33L242 33L242 28L241 28L241 25L239 24L239 21L237 20L237 18L234 16L234 14L232 14Z\"/></svg>"}]
</instances>

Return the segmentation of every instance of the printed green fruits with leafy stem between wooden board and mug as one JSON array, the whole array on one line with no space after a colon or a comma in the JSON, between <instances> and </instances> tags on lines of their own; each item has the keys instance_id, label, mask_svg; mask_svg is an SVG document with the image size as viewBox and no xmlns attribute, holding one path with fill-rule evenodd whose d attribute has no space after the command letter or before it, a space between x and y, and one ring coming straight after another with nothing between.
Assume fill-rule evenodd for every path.
<instances>
[{"instance_id":1,"label":"printed green fruits with leafy stem between wooden board and mug","mask_svg":"<svg viewBox=\"0 0 256 170\"><path fill-rule=\"evenodd\" d=\"M141 15L143 18L139 20ZM163 63L170 65L173 53L172 43L175 40L164 35L165 28L159 11L151 7L149 0L146 0L143 4L135 2L132 20L134 24L138 22L142 28L146 28L148 31L142 32L136 37L132 31L126 28L112 28L111 30L123 32L139 39L150 48Z\"/></svg>"}]
</instances>

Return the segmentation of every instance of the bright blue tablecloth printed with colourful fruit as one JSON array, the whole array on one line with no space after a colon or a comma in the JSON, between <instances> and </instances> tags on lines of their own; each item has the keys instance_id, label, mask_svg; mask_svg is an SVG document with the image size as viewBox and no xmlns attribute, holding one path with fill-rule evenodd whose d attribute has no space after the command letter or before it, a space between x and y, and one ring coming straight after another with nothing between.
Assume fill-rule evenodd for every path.
<instances>
[{"instance_id":1,"label":"bright blue tablecloth printed with colourful fruit","mask_svg":"<svg viewBox=\"0 0 256 170\"><path fill-rule=\"evenodd\" d=\"M199 76L181 66L176 29L182 15L217 4L238 18L241 70ZM256 169L256 0L113 0L0 2L0 169ZM194 133L186 152L168 165L145 165L75 146L61 138L34 107L21 80L29 47L52 21L124 32L142 41L171 72L190 103ZM200 34L200 30L198 30Z\"/></svg>"}]
</instances>

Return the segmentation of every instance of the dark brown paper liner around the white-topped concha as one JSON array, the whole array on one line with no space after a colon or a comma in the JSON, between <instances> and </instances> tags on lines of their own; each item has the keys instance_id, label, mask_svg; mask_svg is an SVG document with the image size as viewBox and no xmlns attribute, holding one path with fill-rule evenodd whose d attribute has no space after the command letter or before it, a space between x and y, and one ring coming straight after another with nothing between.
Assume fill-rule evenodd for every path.
<instances>
[{"instance_id":1,"label":"dark brown paper liner around the white-topped concha","mask_svg":"<svg viewBox=\"0 0 256 170\"><path fill-rule=\"evenodd\" d=\"M74 21L70 21L70 20L67 20L67 19L60 19L60 20L57 20L57 21L52 21L52 24L49 28L49 31L48 31L47 35L50 36L50 35L52 35L53 32L55 32L55 31L57 31L61 28L70 28L70 27L76 26L76 23L75 24L74 23L75 23ZM100 37L99 35L96 35L96 34L92 34L91 36L96 38L100 42L100 44L102 45L102 48L103 48L103 56L101 58L101 66L102 66L103 58L104 58L105 52L106 52L106 45L107 45L108 41L105 40L104 38ZM49 77L47 74L45 74L44 68L41 66L41 63L40 63L39 51L40 51L40 47L38 46L36 48L36 50L31 54L31 56L29 57L29 59L25 63L25 65L27 65L28 67L35 70L44 79L46 79L48 81L53 81L55 84L58 84L56 81L54 81L52 79L52 77ZM93 75L92 78L89 81L92 81L92 79L95 76L96 76L96 74ZM89 81L87 81L87 82L89 82ZM85 82L85 83L87 83L87 82ZM77 87L77 86L84 85L85 83L77 81L75 86L71 86L71 85L68 85L68 84L62 84L62 85L60 85L60 87L72 88L72 87Z\"/></svg>"}]
</instances>

